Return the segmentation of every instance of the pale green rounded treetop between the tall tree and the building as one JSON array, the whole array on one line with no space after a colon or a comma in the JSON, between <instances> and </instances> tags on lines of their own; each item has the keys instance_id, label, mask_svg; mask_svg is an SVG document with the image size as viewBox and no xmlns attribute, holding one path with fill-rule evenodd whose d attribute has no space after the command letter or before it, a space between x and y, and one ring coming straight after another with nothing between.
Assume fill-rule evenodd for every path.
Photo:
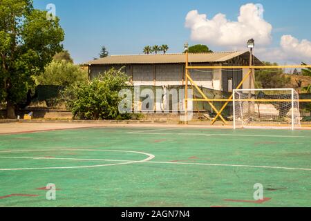
<instances>
[{"instance_id":1,"label":"pale green rounded treetop between the tall tree and the building","mask_svg":"<svg viewBox=\"0 0 311 221\"><path fill-rule=\"evenodd\" d=\"M40 85L71 86L88 80L87 70L68 61L52 61L42 75L37 77Z\"/></svg>"}]
</instances>

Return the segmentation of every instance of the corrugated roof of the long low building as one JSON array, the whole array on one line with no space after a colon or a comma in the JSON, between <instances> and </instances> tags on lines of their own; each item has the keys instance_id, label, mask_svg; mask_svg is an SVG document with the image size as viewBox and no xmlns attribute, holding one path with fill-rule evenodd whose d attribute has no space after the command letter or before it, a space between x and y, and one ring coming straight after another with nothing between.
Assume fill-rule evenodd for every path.
<instances>
[{"instance_id":1,"label":"corrugated roof of the long low building","mask_svg":"<svg viewBox=\"0 0 311 221\"><path fill-rule=\"evenodd\" d=\"M223 62L234 57L244 55L249 59L248 51L236 52L212 52L212 53L196 53L189 54L189 62L204 63L204 62ZM247 60L248 60L247 59ZM255 58L255 63L261 63ZM165 54L165 55L112 55L86 62L86 65L105 65L105 64L178 64L185 63L185 54Z\"/></svg>"}]
</instances>

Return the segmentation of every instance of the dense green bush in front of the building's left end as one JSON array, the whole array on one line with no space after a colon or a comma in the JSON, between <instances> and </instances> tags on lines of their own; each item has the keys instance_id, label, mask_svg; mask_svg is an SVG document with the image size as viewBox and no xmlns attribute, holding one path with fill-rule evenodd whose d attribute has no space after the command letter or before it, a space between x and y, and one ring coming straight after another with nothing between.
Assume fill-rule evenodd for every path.
<instances>
[{"instance_id":1,"label":"dense green bush in front of the building's left end","mask_svg":"<svg viewBox=\"0 0 311 221\"><path fill-rule=\"evenodd\" d=\"M129 76L112 68L92 81L75 84L64 90L67 108L74 119L129 119L120 114L119 91L127 86Z\"/></svg>"}]
</instances>

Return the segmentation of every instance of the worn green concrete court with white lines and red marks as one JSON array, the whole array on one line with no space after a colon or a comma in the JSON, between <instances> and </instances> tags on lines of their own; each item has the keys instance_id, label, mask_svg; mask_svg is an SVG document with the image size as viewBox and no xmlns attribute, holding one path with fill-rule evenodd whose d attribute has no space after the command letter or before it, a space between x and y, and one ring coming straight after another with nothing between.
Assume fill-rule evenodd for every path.
<instances>
[{"instance_id":1,"label":"worn green concrete court with white lines and red marks","mask_svg":"<svg viewBox=\"0 0 311 221\"><path fill-rule=\"evenodd\" d=\"M311 206L310 138L167 127L0 135L0 206Z\"/></svg>"}]
</instances>

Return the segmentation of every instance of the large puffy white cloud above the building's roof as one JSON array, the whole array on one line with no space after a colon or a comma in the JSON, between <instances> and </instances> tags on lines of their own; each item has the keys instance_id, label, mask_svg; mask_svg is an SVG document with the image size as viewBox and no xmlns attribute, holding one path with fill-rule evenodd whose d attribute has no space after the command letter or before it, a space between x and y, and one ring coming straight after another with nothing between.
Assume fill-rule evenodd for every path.
<instances>
[{"instance_id":1,"label":"large puffy white cloud above the building's roof","mask_svg":"<svg viewBox=\"0 0 311 221\"><path fill-rule=\"evenodd\" d=\"M229 21L221 13L207 19L207 15L192 10L187 14L185 26L191 29L192 40L211 46L245 47L251 38L256 45L265 46L272 41L272 25L263 19L263 11L260 4L247 3L240 8L238 21Z\"/></svg>"}]
</instances>

